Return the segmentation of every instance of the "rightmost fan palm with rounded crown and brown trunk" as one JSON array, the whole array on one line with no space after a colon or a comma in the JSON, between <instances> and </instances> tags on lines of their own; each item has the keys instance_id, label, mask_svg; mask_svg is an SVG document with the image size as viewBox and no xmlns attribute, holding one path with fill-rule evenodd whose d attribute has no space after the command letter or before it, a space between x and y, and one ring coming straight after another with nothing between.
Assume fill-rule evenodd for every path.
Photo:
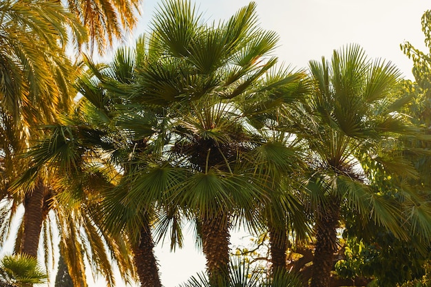
<instances>
[{"instance_id":1,"label":"rightmost fan palm with rounded crown and brown trunk","mask_svg":"<svg viewBox=\"0 0 431 287\"><path fill-rule=\"evenodd\" d=\"M316 237L311 286L323 287L329 286L344 206L360 222L372 219L406 236L399 204L372 182L376 172L416 176L394 143L417 129L399 113L407 101L397 68L369 60L358 45L335 50L331 61L311 61L310 72L313 92L297 125L310 150L307 190Z\"/></svg>"}]
</instances>

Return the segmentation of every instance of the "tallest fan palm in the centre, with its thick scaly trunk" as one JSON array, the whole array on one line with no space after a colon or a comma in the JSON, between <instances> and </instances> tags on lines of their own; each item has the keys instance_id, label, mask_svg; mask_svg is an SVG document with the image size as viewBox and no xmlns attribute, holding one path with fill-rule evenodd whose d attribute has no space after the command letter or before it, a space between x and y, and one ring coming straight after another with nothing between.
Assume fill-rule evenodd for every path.
<instances>
[{"instance_id":1,"label":"tallest fan palm in the centre, with its thick scaly trunk","mask_svg":"<svg viewBox=\"0 0 431 287\"><path fill-rule=\"evenodd\" d=\"M152 26L154 61L138 74L135 100L167 107L169 156L180 173L174 200L196 221L209 282L219 286L227 281L231 224L251 219L263 194L244 164L255 144L240 103L259 92L275 65L269 53L277 36L257 27L255 3L227 22L205 25L188 1L166 1Z\"/></svg>"}]
</instances>

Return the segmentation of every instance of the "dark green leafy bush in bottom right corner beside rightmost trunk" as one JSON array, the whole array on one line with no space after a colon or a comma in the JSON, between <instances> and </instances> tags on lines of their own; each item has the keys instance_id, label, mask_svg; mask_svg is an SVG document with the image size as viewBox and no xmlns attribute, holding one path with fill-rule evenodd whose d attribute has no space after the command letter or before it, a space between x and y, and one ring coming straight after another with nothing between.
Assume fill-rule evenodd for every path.
<instances>
[{"instance_id":1,"label":"dark green leafy bush in bottom right corner beside rightmost trunk","mask_svg":"<svg viewBox=\"0 0 431 287\"><path fill-rule=\"evenodd\" d=\"M347 233L347 232L346 232ZM337 275L371 282L376 286L397 286L406 281L421 279L424 266L430 259L429 251L418 248L417 237L399 240L384 228L375 227L375 235L366 240L347 237L341 250L343 259L335 264Z\"/></svg>"}]
</instances>

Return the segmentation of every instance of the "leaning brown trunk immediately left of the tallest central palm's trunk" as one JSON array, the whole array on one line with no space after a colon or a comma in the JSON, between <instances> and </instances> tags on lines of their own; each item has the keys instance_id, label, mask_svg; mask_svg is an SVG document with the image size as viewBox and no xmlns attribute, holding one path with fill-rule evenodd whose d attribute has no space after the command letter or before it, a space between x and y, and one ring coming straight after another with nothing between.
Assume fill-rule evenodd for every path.
<instances>
[{"instance_id":1,"label":"leaning brown trunk immediately left of the tallest central palm's trunk","mask_svg":"<svg viewBox=\"0 0 431 287\"><path fill-rule=\"evenodd\" d=\"M154 242L148 222L140 230L140 240L134 248L134 262L141 287L161 287Z\"/></svg>"}]
</instances>

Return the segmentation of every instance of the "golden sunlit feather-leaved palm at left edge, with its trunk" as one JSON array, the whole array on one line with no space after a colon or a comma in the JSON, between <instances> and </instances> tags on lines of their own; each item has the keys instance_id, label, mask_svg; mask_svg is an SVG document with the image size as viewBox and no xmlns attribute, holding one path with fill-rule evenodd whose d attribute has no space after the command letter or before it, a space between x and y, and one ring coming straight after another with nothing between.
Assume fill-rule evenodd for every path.
<instances>
[{"instance_id":1,"label":"golden sunlit feather-leaved palm at left edge, with its trunk","mask_svg":"<svg viewBox=\"0 0 431 287\"><path fill-rule=\"evenodd\" d=\"M65 56L68 33L63 24L69 23L75 34L82 30L59 3L2 1L0 15L0 73L4 79L0 114L1 129L5 131L1 163L6 191L27 165L19 153L28 148L30 138L40 136L40 131L31 127L47 123L55 118L56 109L71 103L73 89L66 78L74 74L74 68ZM21 189L14 195L6 191L2 195L24 204L21 246L17 251L36 257L48 189L39 179L26 191Z\"/></svg>"}]
</instances>

